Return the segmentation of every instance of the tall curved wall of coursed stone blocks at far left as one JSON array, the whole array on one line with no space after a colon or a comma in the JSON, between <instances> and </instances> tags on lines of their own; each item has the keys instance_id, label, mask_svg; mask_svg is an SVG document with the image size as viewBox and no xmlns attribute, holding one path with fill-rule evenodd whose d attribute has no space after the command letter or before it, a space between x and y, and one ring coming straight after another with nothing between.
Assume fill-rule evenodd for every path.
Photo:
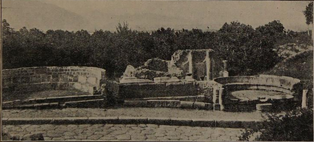
<instances>
[{"instance_id":1,"label":"tall curved wall of coursed stone blocks at far left","mask_svg":"<svg viewBox=\"0 0 314 142\"><path fill-rule=\"evenodd\" d=\"M78 90L93 94L106 70L95 67L31 67L2 71L3 91Z\"/></svg>"}]
</instances>

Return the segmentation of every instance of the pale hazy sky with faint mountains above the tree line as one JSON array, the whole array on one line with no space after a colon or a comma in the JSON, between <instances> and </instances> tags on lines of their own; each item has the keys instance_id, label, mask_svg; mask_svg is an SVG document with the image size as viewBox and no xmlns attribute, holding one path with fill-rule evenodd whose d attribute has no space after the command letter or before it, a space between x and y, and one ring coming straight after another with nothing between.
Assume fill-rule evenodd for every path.
<instances>
[{"instance_id":1,"label":"pale hazy sky with faint mountains above the tree line","mask_svg":"<svg viewBox=\"0 0 314 142\"><path fill-rule=\"evenodd\" d=\"M127 21L132 30L160 27L175 30L219 30L238 21L256 28L279 20L286 30L306 31L302 11L310 2L300 1L125 1L125 0L4 0L2 18L12 28L43 31L80 29L115 31ZM209 27L209 28L208 28Z\"/></svg>"}]
</instances>

